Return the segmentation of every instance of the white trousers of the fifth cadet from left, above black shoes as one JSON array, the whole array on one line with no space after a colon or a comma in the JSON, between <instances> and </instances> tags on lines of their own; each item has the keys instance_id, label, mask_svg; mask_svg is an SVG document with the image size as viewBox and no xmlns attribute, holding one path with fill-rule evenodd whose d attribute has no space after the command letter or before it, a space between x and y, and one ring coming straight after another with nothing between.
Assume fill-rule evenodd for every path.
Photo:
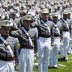
<instances>
[{"instance_id":1,"label":"white trousers of the fifth cadet from left, above black shoes","mask_svg":"<svg viewBox=\"0 0 72 72\"><path fill-rule=\"evenodd\" d=\"M61 45L61 58L67 57L68 49L69 49L69 43L70 43L70 33L69 32L63 32L63 45Z\"/></svg>"}]
</instances>

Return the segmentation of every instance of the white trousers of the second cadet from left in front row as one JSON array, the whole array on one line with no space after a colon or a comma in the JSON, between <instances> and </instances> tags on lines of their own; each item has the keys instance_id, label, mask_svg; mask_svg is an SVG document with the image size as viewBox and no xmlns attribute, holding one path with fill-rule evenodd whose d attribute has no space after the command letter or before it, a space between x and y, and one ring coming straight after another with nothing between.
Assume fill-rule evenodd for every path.
<instances>
[{"instance_id":1,"label":"white trousers of the second cadet from left in front row","mask_svg":"<svg viewBox=\"0 0 72 72\"><path fill-rule=\"evenodd\" d=\"M33 72L34 50L21 49L19 62L20 62L20 72Z\"/></svg>"}]
</instances>

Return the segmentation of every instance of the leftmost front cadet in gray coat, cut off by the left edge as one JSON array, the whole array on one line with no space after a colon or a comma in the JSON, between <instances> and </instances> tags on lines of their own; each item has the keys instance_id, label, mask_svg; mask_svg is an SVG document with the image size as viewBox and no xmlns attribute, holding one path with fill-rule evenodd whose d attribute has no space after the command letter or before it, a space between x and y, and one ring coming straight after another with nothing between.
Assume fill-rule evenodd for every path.
<instances>
[{"instance_id":1,"label":"leftmost front cadet in gray coat, cut off by the left edge","mask_svg":"<svg viewBox=\"0 0 72 72\"><path fill-rule=\"evenodd\" d=\"M0 21L0 72L15 72L15 58L18 39L9 36L10 27L13 24L8 21Z\"/></svg>"}]
</instances>

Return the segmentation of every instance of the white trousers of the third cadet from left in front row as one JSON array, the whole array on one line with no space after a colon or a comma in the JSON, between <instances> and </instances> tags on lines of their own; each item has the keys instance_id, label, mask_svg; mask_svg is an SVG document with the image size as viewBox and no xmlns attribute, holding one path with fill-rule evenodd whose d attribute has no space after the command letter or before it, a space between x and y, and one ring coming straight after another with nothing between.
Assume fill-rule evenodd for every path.
<instances>
[{"instance_id":1,"label":"white trousers of the third cadet from left in front row","mask_svg":"<svg viewBox=\"0 0 72 72\"><path fill-rule=\"evenodd\" d=\"M38 68L39 72L48 72L48 61L51 50L51 39L40 37L38 39Z\"/></svg>"}]
</instances>

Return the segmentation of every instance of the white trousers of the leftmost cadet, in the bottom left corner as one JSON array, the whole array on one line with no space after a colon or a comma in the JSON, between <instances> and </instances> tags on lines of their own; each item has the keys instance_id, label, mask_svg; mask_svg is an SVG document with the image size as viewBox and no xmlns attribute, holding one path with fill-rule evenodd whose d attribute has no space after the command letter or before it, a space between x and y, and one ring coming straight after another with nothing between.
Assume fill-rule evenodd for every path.
<instances>
[{"instance_id":1,"label":"white trousers of the leftmost cadet, in the bottom left corner","mask_svg":"<svg viewBox=\"0 0 72 72\"><path fill-rule=\"evenodd\" d=\"M15 72L14 61L1 61L0 72Z\"/></svg>"}]
</instances>

